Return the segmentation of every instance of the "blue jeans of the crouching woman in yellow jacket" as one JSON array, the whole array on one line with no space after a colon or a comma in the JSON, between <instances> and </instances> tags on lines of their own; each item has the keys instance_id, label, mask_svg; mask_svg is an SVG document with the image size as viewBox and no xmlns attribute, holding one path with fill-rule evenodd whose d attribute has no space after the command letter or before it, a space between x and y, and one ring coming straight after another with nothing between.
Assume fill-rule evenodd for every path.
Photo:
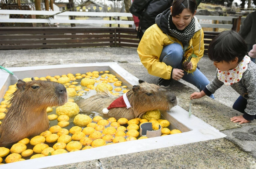
<instances>
[{"instance_id":1,"label":"blue jeans of the crouching woman in yellow jacket","mask_svg":"<svg viewBox=\"0 0 256 169\"><path fill-rule=\"evenodd\" d=\"M173 68L183 69L183 48L178 43L172 43L164 46L162 53L160 55L160 62L164 62L166 65L170 65ZM188 83L196 86L200 91L202 91L206 85L210 83L210 81L204 76L204 74L199 70L192 73L188 73L184 71L184 76L182 77ZM213 94L210 96L214 99Z\"/></svg>"}]
</instances>

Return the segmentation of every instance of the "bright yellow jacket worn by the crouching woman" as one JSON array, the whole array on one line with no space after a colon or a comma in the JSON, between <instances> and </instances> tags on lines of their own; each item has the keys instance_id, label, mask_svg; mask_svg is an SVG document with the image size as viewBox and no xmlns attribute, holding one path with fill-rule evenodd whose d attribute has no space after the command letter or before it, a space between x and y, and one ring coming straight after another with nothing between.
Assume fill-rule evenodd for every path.
<instances>
[{"instance_id":1,"label":"bright yellow jacket worn by the crouching woman","mask_svg":"<svg viewBox=\"0 0 256 169\"><path fill-rule=\"evenodd\" d=\"M194 54L197 55L197 58L192 57L191 59L193 65L192 72L196 70L198 61L204 55L204 32L201 29L196 17L195 24L195 34L188 42L189 45L184 54L184 56L188 58L193 53L193 49L191 47L191 45L193 45ZM183 44L178 39L169 34L167 36L167 34L164 33L157 24L153 24L145 31L139 43L137 52L139 54L141 63L148 70L149 74L164 79L171 78L173 68L166 65L164 62L160 62L159 58L163 47L172 43L179 43L183 47ZM184 60L184 62L185 61L186 60ZM191 71L189 71L189 73L191 73Z\"/></svg>"}]
</instances>

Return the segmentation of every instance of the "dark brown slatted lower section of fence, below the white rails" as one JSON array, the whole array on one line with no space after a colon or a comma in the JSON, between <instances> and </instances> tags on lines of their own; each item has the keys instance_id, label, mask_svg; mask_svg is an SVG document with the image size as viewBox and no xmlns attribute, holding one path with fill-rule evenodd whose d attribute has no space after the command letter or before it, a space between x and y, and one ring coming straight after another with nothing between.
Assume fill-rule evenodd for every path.
<instances>
[{"instance_id":1,"label":"dark brown slatted lower section of fence, below the white rails","mask_svg":"<svg viewBox=\"0 0 256 169\"><path fill-rule=\"evenodd\" d=\"M0 27L0 49L138 47L137 32L121 27ZM205 54L219 32L204 31Z\"/></svg>"}]
</instances>

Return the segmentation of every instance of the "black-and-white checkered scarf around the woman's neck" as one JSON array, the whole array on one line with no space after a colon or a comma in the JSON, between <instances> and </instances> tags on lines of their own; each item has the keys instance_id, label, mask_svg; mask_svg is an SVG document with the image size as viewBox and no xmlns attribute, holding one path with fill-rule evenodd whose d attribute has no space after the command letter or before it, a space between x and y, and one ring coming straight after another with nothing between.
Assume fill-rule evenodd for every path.
<instances>
[{"instance_id":1,"label":"black-and-white checkered scarf around the woman's neck","mask_svg":"<svg viewBox=\"0 0 256 169\"><path fill-rule=\"evenodd\" d=\"M170 13L168 17L168 28L171 35L177 38L180 42L188 42L195 33L195 19L192 18L190 24L184 29L183 33L178 32L175 28L171 27L170 20L172 19L172 14ZM172 22L172 21L171 21Z\"/></svg>"}]
</instances>

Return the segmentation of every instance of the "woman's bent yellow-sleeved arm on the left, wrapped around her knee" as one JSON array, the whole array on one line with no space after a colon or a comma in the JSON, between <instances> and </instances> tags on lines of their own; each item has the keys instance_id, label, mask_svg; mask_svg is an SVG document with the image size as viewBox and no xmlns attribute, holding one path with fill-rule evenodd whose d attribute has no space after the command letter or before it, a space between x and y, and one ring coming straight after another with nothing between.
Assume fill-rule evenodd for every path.
<instances>
[{"instance_id":1,"label":"woman's bent yellow-sleeved arm on the left, wrapped around her knee","mask_svg":"<svg viewBox=\"0 0 256 169\"><path fill-rule=\"evenodd\" d=\"M137 52L141 63L148 70L149 74L164 79L170 79L173 68L159 61L164 46L161 36L166 35L163 34L162 31L156 31L155 29L160 28L154 24L145 31L137 48Z\"/></svg>"}]
</instances>

